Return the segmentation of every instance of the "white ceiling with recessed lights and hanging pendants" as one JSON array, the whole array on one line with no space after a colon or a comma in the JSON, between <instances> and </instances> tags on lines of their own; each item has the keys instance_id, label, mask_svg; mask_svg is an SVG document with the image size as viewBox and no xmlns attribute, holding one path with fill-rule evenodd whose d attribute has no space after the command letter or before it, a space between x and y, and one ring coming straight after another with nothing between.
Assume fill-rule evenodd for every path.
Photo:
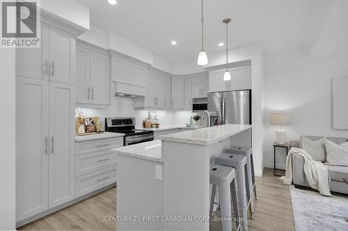
<instances>
[{"instance_id":1,"label":"white ceiling with recessed lights and hanging pendants","mask_svg":"<svg viewBox=\"0 0 348 231\"><path fill-rule=\"evenodd\" d=\"M91 24L117 33L167 60L196 60L200 0L79 0ZM224 48L222 19L231 17L230 47L260 42L266 52L314 46L335 0L205 0L205 50ZM177 45L171 45L176 40Z\"/></svg>"}]
</instances>

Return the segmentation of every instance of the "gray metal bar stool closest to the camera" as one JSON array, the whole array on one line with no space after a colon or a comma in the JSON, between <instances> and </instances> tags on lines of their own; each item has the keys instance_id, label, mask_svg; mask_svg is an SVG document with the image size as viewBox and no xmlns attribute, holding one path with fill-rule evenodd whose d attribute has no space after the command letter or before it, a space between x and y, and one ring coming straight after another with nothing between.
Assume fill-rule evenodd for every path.
<instances>
[{"instance_id":1,"label":"gray metal bar stool closest to the camera","mask_svg":"<svg viewBox=\"0 0 348 231\"><path fill-rule=\"evenodd\" d=\"M210 184L212 188L212 198L210 200L210 217L212 218L214 201L216 195L216 186L219 188L219 201L222 218L223 231L232 230L232 216L231 216L231 197L233 202L233 209L235 211L237 231L240 229L239 223L239 209L237 200L237 188L235 184L236 173L235 169L228 166L210 165ZM214 212L216 213L216 212Z\"/></svg>"}]
</instances>

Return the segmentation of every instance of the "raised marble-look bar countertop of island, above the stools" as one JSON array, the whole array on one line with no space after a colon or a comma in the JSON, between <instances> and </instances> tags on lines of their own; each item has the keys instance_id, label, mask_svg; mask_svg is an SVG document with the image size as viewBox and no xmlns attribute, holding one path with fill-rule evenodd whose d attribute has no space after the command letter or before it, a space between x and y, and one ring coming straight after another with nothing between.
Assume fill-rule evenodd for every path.
<instances>
[{"instance_id":1,"label":"raised marble-look bar countertop of island, above the stools","mask_svg":"<svg viewBox=\"0 0 348 231\"><path fill-rule=\"evenodd\" d=\"M249 128L252 128L252 126L244 124L224 124L221 126L161 135L159 139L184 144L211 145Z\"/></svg>"}]
</instances>

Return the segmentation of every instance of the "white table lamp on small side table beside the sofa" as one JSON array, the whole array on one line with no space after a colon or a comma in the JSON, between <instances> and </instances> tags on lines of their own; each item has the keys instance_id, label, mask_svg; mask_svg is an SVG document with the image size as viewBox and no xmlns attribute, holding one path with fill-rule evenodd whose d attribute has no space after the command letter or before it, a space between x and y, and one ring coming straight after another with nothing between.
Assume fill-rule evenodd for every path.
<instances>
[{"instance_id":1,"label":"white table lamp on small side table beside the sofa","mask_svg":"<svg viewBox=\"0 0 348 231\"><path fill-rule=\"evenodd\" d=\"M271 112L269 120L271 125L279 126L278 130L276 130L277 144L285 144L285 130L282 126L291 124L291 114L285 112Z\"/></svg>"}]
</instances>

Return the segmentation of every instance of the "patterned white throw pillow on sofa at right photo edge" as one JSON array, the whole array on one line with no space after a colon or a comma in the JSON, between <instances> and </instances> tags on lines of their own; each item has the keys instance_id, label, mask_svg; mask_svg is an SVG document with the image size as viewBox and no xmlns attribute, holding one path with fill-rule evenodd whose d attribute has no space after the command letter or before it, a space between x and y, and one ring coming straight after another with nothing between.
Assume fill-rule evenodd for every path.
<instances>
[{"instance_id":1,"label":"patterned white throw pillow on sofa at right photo edge","mask_svg":"<svg viewBox=\"0 0 348 231\"><path fill-rule=\"evenodd\" d=\"M348 148L345 148L346 146L348 146L347 142L338 145L326 140L326 162L331 165L348 166Z\"/></svg>"}]
</instances>

